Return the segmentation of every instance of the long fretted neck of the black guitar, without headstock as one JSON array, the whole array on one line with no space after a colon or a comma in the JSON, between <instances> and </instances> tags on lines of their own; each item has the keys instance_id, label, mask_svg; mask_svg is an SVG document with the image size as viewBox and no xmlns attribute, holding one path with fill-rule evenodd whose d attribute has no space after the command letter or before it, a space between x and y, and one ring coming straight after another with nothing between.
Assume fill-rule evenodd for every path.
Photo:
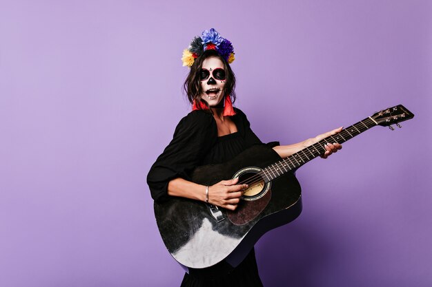
<instances>
[{"instance_id":1,"label":"long fretted neck of the black guitar, without headstock","mask_svg":"<svg viewBox=\"0 0 432 287\"><path fill-rule=\"evenodd\" d=\"M364 120L360 120L360 122L355 123L346 129L342 129L342 131L338 134L328 136L327 138L324 138L313 145L305 147L301 151L297 151L297 153L293 153L293 155L288 156L288 158L279 160L278 162L275 162L274 164L264 168L262 171L262 173L264 173L264 181L269 182L274 180L288 171L292 171L293 169L301 167L303 164L313 160L317 156L321 156L326 151L324 148L326 143L337 142L342 144L342 142L351 140L351 138L362 134L363 131L367 131L376 125L377 122L375 122L375 120L373 120L371 117L365 118Z\"/></svg>"}]
</instances>

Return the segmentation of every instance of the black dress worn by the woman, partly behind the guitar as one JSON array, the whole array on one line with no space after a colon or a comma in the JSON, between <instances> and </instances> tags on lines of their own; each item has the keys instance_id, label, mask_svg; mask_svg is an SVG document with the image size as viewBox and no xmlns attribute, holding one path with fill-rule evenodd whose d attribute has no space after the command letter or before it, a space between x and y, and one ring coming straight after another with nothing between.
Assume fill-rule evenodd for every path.
<instances>
[{"instance_id":1,"label":"black dress worn by the woman, partly behind the guitar","mask_svg":"<svg viewBox=\"0 0 432 287\"><path fill-rule=\"evenodd\" d=\"M190 173L195 167L226 162L244 149L262 143L251 130L246 115L239 109L235 112L231 119L237 126L237 132L220 137L217 136L216 121L209 111L191 111L180 120L173 140L148 173L147 182L154 200L169 197L167 188L170 180L190 180ZM181 286L262 286L255 252L252 250L236 268L224 261L208 268L189 268L189 274L185 273Z\"/></svg>"}]
</instances>

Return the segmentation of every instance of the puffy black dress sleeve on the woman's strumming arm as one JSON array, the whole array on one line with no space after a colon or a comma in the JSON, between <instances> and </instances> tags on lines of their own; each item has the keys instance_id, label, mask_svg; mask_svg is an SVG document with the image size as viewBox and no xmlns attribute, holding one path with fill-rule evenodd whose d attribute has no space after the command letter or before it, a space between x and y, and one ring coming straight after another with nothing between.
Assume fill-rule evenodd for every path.
<instances>
[{"instance_id":1,"label":"puffy black dress sleeve on the woman's strumming arm","mask_svg":"<svg viewBox=\"0 0 432 287\"><path fill-rule=\"evenodd\" d=\"M150 168L147 184L153 200L168 199L168 182L174 178L190 180L190 174L217 140L213 116L192 111L175 128L173 140Z\"/></svg>"}]
</instances>

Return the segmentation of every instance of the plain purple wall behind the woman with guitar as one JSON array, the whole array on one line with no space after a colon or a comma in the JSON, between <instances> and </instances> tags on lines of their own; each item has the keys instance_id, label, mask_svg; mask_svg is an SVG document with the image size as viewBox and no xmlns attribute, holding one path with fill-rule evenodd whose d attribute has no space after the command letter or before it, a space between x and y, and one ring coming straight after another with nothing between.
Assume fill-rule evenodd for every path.
<instances>
[{"instance_id":1,"label":"plain purple wall behind the woman with guitar","mask_svg":"<svg viewBox=\"0 0 432 287\"><path fill-rule=\"evenodd\" d=\"M297 172L301 217L256 246L264 285L432 286L431 19L431 1L1 1L0 286L179 286L145 179L211 27L263 141L415 114Z\"/></svg>"}]
</instances>

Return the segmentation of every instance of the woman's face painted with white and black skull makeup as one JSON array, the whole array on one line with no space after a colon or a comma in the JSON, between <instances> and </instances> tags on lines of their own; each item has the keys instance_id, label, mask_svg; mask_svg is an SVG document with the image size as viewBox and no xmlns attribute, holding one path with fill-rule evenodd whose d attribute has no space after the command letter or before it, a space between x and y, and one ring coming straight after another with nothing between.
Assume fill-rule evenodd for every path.
<instances>
[{"instance_id":1,"label":"woman's face painted with white and black skull makeup","mask_svg":"<svg viewBox=\"0 0 432 287\"><path fill-rule=\"evenodd\" d=\"M224 63L217 57L210 57L203 61L199 71L201 81L201 98L206 100L210 107L219 104L224 98L226 72Z\"/></svg>"}]
</instances>

